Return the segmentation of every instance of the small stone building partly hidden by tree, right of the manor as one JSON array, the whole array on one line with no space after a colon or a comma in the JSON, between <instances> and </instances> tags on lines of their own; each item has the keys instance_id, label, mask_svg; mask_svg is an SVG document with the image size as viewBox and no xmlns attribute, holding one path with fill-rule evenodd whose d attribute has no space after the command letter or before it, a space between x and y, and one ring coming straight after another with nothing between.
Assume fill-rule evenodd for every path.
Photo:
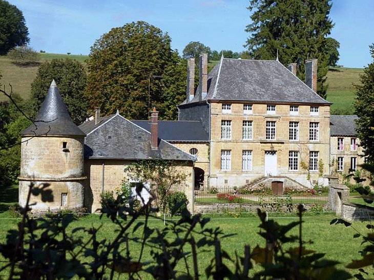
<instances>
[{"instance_id":1,"label":"small stone building partly hidden by tree, right of the manor","mask_svg":"<svg viewBox=\"0 0 374 280\"><path fill-rule=\"evenodd\" d=\"M357 116L330 116L331 174L348 174L365 161L356 132L357 119Z\"/></svg>"}]
</instances>

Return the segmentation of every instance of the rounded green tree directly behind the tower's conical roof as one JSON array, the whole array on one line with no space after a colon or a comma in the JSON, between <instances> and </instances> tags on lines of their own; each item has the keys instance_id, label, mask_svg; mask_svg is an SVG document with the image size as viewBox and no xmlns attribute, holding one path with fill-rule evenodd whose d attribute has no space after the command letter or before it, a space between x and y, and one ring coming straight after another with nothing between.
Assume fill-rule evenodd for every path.
<instances>
[{"instance_id":1,"label":"rounded green tree directly behind the tower's conical roof","mask_svg":"<svg viewBox=\"0 0 374 280\"><path fill-rule=\"evenodd\" d=\"M43 103L52 80L56 81L73 122L81 124L88 116L88 102L84 98L87 84L86 70L74 59L52 59L40 64L31 84L31 106L36 114Z\"/></svg>"}]
</instances>

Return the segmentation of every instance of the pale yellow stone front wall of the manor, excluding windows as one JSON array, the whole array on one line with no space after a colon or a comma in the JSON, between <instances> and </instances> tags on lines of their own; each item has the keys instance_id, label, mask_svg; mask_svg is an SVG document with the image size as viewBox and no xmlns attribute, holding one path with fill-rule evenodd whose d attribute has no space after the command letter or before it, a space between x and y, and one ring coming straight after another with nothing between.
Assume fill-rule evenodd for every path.
<instances>
[{"instance_id":1,"label":"pale yellow stone front wall of the manor, excluding windows","mask_svg":"<svg viewBox=\"0 0 374 280\"><path fill-rule=\"evenodd\" d=\"M227 104L228 102L226 102ZM243 105L246 103L230 103L231 113L222 112L222 104L212 102L211 105L211 174L212 186L242 186L266 176L264 158L266 151L277 154L277 176L286 176L297 182L310 186L318 182L319 171L301 168L301 162L309 163L309 151L316 151L322 160L323 175L329 174L329 105L319 105L318 115L311 115L310 106L313 104L277 104L275 114L267 114L267 104L252 104L252 113L244 114ZM290 105L299 106L298 115L290 115ZM222 120L231 121L231 139L221 139ZM252 121L252 139L243 140L243 121ZM266 121L276 122L275 140L266 140ZM299 140L289 140L289 122L299 122ZM309 123L319 123L318 141L309 140ZM231 170L221 169L221 150L231 151ZM252 150L252 170L242 170L242 151ZM297 151L298 170L289 171L288 152Z\"/></svg>"}]
</instances>

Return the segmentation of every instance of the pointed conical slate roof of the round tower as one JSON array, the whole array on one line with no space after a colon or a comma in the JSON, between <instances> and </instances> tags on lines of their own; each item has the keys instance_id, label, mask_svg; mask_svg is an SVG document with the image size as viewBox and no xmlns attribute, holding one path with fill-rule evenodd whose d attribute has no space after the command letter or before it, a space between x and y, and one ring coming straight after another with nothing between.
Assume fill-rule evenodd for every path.
<instances>
[{"instance_id":1,"label":"pointed conical slate roof of the round tower","mask_svg":"<svg viewBox=\"0 0 374 280\"><path fill-rule=\"evenodd\" d=\"M46 98L41 104L35 124L31 124L22 135L86 136L70 118L68 109L53 80ZM35 126L36 125L36 126Z\"/></svg>"}]
</instances>

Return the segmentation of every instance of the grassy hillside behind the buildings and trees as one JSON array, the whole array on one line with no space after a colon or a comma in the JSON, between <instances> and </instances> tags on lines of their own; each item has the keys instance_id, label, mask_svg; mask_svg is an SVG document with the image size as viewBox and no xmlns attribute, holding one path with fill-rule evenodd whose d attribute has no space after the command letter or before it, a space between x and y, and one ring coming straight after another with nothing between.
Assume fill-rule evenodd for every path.
<instances>
[{"instance_id":1,"label":"grassy hillside behind the buildings and trees","mask_svg":"<svg viewBox=\"0 0 374 280\"><path fill-rule=\"evenodd\" d=\"M53 58L73 58L84 64L88 59L87 55L68 55L40 53L40 61L51 60ZM209 69L212 69L218 61L210 61ZM23 98L30 96L31 82L34 80L37 67L18 67L11 63L6 56L0 56L0 70L3 78L2 84L13 86L13 91ZM352 103L355 99L354 83L359 83L359 75L362 69L356 68L331 68L327 74L327 100L333 102L331 106L332 114L353 114ZM5 96L0 96L0 101L6 100Z\"/></svg>"}]
</instances>

